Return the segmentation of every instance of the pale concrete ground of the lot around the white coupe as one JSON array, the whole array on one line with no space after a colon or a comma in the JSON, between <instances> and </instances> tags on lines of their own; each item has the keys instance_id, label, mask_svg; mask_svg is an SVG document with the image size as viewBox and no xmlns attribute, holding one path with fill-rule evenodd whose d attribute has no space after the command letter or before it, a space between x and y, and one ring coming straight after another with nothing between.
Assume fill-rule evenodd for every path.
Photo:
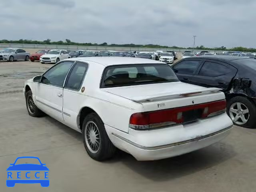
<instances>
[{"instance_id":1,"label":"pale concrete ground of the lot around the white coupe","mask_svg":"<svg viewBox=\"0 0 256 192\"><path fill-rule=\"evenodd\" d=\"M0 62L1 192L256 191L256 129L234 126L217 144L165 160L138 162L124 152L106 162L92 160L80 133L49 116L33 118L27 113L23 83L50 66ZM36 156L46 164L48 188L40 184L6 187L6 168L19 156Z\"/></svg>"}]
</instances>

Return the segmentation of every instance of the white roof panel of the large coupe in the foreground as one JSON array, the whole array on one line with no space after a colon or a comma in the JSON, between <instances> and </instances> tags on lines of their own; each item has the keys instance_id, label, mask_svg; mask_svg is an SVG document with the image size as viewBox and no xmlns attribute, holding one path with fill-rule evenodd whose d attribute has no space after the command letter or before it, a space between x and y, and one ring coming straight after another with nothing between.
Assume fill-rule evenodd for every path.
<instances>
[{"instance_id":1,"label":"white roof panel of the large coupe in the foreground","mask_svg":"<svg viewBox=\"0 0 256 192\"><path fill-rule=\"evenodd\" d=\"M82 61L82 62L96 62L104 66L110 65L125 65L125 64L163 64L163 62L143 59L143 58L132 58L132 57L76 57L66 60Z\"/></svg>"}]
</instances>

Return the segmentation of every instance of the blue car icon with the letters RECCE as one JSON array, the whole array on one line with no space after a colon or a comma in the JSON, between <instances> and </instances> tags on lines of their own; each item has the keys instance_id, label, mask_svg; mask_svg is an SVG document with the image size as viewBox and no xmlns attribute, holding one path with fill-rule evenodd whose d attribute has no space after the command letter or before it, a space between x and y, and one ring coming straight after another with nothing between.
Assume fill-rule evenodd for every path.
<instances>
[{"instance_id":1,"label":"blue car icon with the letters RECCE","mask_svg":"<svg viewBox=\"0 0 256 192\"><path fill-rule=\"evenodd\" d=\"M26 163L19 164L17 161L25 160ZM36 164L27 163L34 160ZM32 184L40 183L42 187L48 187L50 180L48 178L49 169L43 164L38 157L18 157L13 164L6 169L7 171L7 187L14 187L16 183Z\"/></svg>"}]
</instances>

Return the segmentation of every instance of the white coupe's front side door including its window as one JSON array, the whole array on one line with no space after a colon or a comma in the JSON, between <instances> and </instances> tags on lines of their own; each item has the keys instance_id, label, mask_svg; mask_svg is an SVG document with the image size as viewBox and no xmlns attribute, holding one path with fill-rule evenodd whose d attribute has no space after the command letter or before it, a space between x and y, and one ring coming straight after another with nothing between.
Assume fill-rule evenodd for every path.
<instances>
[{"instance_id":1,"label":"white coupe's front side door including its window","mask_svg":"<svg viewBox=\"0 0 256 192\"><path fill-rule=\"evenodd\" d=\"M66 61L54 65L36 85L36 106L59 121L63 121L63 85L73 63Z\"/></svg>"}]
</instances>

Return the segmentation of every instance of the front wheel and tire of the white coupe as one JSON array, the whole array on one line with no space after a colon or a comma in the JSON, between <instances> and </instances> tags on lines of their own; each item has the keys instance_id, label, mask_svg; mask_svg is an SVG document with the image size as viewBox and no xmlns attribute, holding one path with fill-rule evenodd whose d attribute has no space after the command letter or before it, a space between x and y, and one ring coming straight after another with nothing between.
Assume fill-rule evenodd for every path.
<instances>
[{"instance_id":1,"label":"front wheel and tire of the white coupe","mask_svg":"<svg viewBox=\"0 0 256 192\"><path fill-rule=\"evenodd\" d=\"M30 116L32 116L32 117L40 117L40 116L44 115L44 112L42 112L40 109L38 109L36 104L34 104L33 97L32 97L32 91L31 90L29 90L26 93L26 106L27 106L28 114Z\"/></svg>"}]
</instances>

